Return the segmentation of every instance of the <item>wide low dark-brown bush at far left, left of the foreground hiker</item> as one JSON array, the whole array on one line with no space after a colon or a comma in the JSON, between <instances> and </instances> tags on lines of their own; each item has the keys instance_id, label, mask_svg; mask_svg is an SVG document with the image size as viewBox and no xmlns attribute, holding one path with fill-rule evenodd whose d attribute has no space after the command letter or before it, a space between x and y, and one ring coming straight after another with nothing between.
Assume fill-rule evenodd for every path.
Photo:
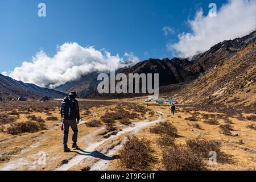
<instances>
[{"instance_id":1,"label":"wide low dark-brown bush at far left, left of the foreground hiker","mask_svg":"<svg viewBox=\"0 0 256 182\"><path fill-rule=\"evenodd\" d=\"M13 123L7 127L7 133L17 135L20 133L35 133L39 131L40 125L33 121Z\"/></svg>"}]
</instances>

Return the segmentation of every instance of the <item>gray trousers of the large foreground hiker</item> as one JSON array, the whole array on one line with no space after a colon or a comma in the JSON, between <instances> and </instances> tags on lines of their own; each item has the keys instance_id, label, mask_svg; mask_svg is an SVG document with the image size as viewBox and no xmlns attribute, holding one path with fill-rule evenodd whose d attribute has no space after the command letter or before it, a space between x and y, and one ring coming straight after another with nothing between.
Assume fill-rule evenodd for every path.
<instances>
[{"instance_id":1,"label":"gray trousers of the large foreground hiker","mask_svg":"<svg viewBox=\"0 0 256 182\"><path fill-rule=\"evenodd\" d=\"M74 120L64 119L63 125L64 125L63 146L67 146L67 143L68 143L69 126L71 127L71 129L73 131L73 136L72 136L73 143L76 143L77 142L77 134L78 134L76 120L75 119Z\"/></svg>"}]
</instances>

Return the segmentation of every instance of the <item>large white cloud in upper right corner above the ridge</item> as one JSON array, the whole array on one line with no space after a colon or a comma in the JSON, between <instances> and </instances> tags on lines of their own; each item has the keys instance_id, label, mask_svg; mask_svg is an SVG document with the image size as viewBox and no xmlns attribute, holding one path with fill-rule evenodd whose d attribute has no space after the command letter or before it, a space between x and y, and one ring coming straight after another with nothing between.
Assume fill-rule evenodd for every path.
<instances>
[{"instance_id":1,"label":"large white cloud in upper right corner above the ridge","mask_svg":"<svg viewBox=\"0 0 256 182\"><path fill-rule=\"evenodd\" d=\"M216 17L203 16L200 9L188 24L192 32L179 34L179 42L167 45L181 57L191 57L223 40L250 34L256 29L256 0L229 0Z\"/></svg>"}]
</instances>

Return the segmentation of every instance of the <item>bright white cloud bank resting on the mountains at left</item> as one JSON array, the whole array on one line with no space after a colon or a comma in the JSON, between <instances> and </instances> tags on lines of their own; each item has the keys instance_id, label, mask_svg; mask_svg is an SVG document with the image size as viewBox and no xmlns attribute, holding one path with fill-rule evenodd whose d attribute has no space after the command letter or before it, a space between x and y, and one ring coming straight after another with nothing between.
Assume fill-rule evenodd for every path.
<instances>
[{"instance_id":1,"label":"bright white cloud bank resting on the mountains at left","mask_svg":"<svg viewBox=\"0 0 256 182\"><path fill-rule=\"evenodd\" d=\"M55 88L68 81L77 80L81 76L93 71L109 71L126 67L129 64L138 63L138 57L133 53L125 53L123 57L112 56L110 52L94 47L81 47L77 43L64 43L57 46L57 53L53 57L40 51L31 62L23 62L14 71L3 75L10 76L15 80L21 80L39 86Z\"/></svg>"}]
</instances>

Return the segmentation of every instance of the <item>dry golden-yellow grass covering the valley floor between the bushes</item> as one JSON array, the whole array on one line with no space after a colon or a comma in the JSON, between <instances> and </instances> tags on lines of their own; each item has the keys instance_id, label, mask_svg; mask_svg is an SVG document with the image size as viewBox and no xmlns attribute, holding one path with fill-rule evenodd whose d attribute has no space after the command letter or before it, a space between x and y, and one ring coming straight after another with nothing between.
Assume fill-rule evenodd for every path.
<instances>
[{"instance_id":1,"label":"dry golden-yellow grass covering the valley floor between the bushes","mask_svg":"<svg viewBox=\"0 0 256 182\"><path fill-rule=\"evenodd\" d=\"M141 98L139 98L141 100ZM135 103L138 102L138 98L126 99L123 100L126 102ZM142 105L146 106L146 104ZM92 114L82 116L82 121L91 121L92 119L100 119L101 115L104 115L107 110L114 110L117 105L110 106L97 106L91 107L89 110ZM236 118L230 118L234 123L234 131L233 134L238 134L238 137L228 137L220 133L220 129L218 126L207 125L203 122L203 120L199 122L190 122L185 121L184 118L190 117L191 114L185 113L183 109L179 108L175 116L170 115L170 106L161 105L155 106L149 104L148 106L151 110L162 111L164 113L164 118L166 121L171 122L178 131L178 134L181 136L176 138L176 143L185 144L187 139L197 138L199 136L205 137L209 140L220 140L222 142L222 151L226 154L232 155L232 159L234 164L220 164L217 166L211 167L208 166L209 169L212 170L253 170L256 166L256 131L248 129L246 126L249 124L253 124L252 121L238 121ZM52 116L58 117L59 111L56 109L51 112ZM205 111L200 111L200 113L207 113ZM46 119L46 113L33 113L37 117L42 117ZM212 113L218 114L218 113ZM250 114L243 114L244 116L248 116ZM146 113L148 117L148 121L153 121L158 118L158 114L150 117L148 113ZM180 117L178 117L180 116ZM18 122L27 121L25 114L20 114ZM138 121L134 120L133 122ZM220 124L224 124L222 119L219 119ZM189 126L188 123L199 123L203 130L195 129L192 126ZM0 163L0 169L5 167L6 164L13 165L14 169L18 170L52 170L56 167L60 166L61 163L65 163L67 160L73 158L77 153L63 153L63 147L61 145L62 131L60 130L60 121L46 121L47 130L41 130L38 133L24 133L20 135L8 135L6 133L0 133L0 148L1 148L1 159L3 161ZM118 122L116 125L120 125ZM122 126L123 128L125 126ZM120 127L119 129L122 129ZM97 133L95 135L90 136L97 128L86 127L84 123L81 123L79 126L79 146L81 148L85 148L88 146L88 143L98 141L102 138L101 135ZM102 131L98 131L98 133L102 133ZM69 133L69 146L72 144L71 140L72 131ZM86 136L89 136L89 138ZM140 131L137 136L139 138L146 137L151 140L152 146L154 147L155 156L160 160L161 158L161 150L158 144L156 143L156 139L158 139L159 135L151 134L149 131L149 127ZM125 135L120 135L118 138L113 140L108 140L101 144L101 146L97 147L98 151L108 151L111 150L114 146L121 143L124 139ZM243 144L240 143L240 140L243 141ZM37 164L38 162L38 154L40 151L46 152L46 166L40 166ZM4 155L3 155L4 154ZM207 161L206 161L207 162ZM17 168L15 168L17 167ZM85 166L74 166L69 170L82 170L85 169ZM159 169L160 163L157 163L154 166L154 169ZM117 170L120 169L117 165L117 160L112 160L110 162L109 169Z\"/></svg>"}]
</instances>

